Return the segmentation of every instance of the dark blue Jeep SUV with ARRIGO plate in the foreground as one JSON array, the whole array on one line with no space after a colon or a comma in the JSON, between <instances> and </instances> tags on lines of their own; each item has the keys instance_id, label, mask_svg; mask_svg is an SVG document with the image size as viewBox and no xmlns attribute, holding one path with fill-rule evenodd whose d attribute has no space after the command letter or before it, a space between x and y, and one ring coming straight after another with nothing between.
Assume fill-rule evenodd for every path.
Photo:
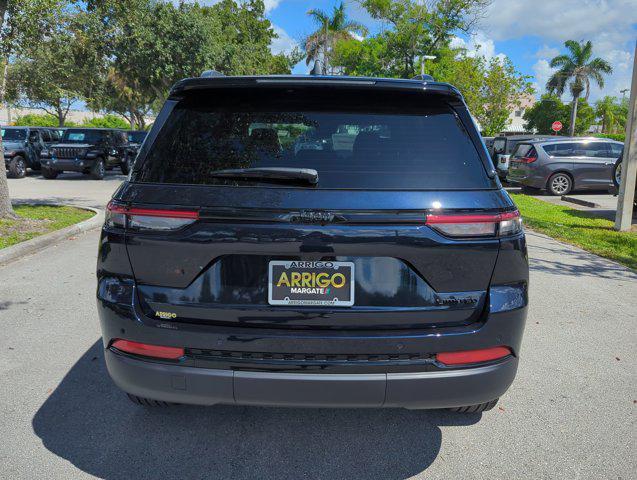
<instances>
[{"instance_id":1,"label":"dark blue Jeep SUV with ARRIGO plate in the foreground","mask_svg":"<svg viewBox=\"0 0 637 480\"><path fill-rule=\"evenodd\" d=\"M454 87L213 77L173 87L97 279L136 403L478 412L513 382L528 263Z\"/></svg>"}]
</instances>

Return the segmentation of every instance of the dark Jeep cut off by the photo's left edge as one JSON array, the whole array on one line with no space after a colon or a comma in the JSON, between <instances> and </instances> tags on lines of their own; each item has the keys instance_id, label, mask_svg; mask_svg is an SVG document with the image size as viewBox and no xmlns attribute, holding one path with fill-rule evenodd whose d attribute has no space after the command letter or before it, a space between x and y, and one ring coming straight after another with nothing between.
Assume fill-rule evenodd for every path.
<instances>
[{"instance_id":1,"label":"dark Jeep cut off by the photo's left edge","mask_svg":"<svg viewBox=\"0 0 637 480\"><path fill-rule=\"evenodd\" d=\"M40 170L40 154L49 139L48 129L34 127L2 127L2 148L7 175L23 178L27 168Z\"/></svg>"}]
</instances>

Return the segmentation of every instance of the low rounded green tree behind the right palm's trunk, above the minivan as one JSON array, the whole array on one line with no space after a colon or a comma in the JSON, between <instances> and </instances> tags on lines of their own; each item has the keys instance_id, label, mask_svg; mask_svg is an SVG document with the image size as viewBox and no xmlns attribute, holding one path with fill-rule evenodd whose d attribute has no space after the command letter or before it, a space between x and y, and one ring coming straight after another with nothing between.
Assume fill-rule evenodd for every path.
<instances>
[{"instance_id":1,"label":"low rounded green tree behind the right palm's trunk, above the minivan","mask_svg":"<svg viewBox=\"0 0 637 480\"><path fill-rule=\"evenodd\" d=\"M525 128L537 132L541 135L552 135L555 132L551 129L553 122L560 121L564 128L559 135L571 135L570 131L571 109L564 104L559 96L544 94L539 102L524 112ZM595 113L586 100L580 101L580 108L577 111L577 122L574 134L586 133L595 120Z\"/></svg>"}]
</instances>

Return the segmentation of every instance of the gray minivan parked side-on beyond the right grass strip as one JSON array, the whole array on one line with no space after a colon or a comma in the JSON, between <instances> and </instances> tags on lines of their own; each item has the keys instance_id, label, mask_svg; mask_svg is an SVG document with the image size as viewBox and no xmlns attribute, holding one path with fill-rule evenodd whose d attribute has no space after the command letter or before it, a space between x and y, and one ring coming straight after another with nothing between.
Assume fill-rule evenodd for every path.
<instances>
[{"instance_id":1,"label":"gray minivan parked side-on beyond the right grass strip","mask_svg":"<svg viewBox=\"0 0 637 480\"><path fill-rule=\"evenodd\" d=\"M572 190L608 190L615 161L624 146L606 138L560 138L518 144L508 181L551 195Z\"/></svg>"}]
</instances>

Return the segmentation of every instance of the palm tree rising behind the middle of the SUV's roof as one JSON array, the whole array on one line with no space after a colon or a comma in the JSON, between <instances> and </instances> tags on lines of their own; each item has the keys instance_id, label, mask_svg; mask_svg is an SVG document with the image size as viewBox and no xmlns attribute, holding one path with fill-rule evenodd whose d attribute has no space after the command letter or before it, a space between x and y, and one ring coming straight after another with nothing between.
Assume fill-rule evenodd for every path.
<instances>
[{"instance_id":1,"label":"palm tree rising behind the middle of the SUV's roof","mask_svg":"<svg viewBox=\"0 0 637 480\"><path fill-rule=\"evenodd\" d=\"M364 25L347 18L343 2L334 7L331 17L318 9L309 10L307 14L318 24L318 29L305 39L307 54L305 64L322 61L325 73L328 72L330 55L337 41L351 40L354 34L367 35L367 28ZM333 66L331 73L333 73Z\"/></svg>"}]
</instances>

